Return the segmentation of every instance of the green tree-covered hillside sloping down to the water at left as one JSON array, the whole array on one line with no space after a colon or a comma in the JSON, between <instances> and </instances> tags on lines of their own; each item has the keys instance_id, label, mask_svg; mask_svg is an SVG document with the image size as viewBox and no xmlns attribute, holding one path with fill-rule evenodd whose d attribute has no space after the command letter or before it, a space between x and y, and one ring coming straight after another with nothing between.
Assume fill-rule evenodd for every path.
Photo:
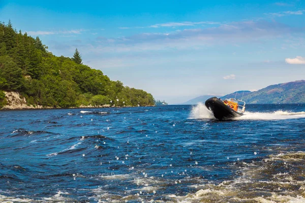
<instances>
[{"instance_id":1,"label":"green tree-covered hillside sloping down to the water at left","mask_svg":"<svg viewBox=\"0 0 305 203\"><path fill-rule=\"evenodd\" d=\"M17 91L28 105L77 107L80 105L154 105L151 94L111 81L102 71L73 58L54 56L36 39L16 31L12 23L0 23L0 108L4 91Z\"/></svg>"}]
</instances>

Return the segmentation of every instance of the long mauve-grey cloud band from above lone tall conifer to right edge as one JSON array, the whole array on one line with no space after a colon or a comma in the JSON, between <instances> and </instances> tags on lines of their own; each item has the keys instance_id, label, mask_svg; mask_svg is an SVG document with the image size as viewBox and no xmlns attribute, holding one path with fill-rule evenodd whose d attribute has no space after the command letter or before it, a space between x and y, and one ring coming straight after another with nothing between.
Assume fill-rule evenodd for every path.
<instances>
[{"instance_id":1,"label":"long mauve-grey cloud band from above lone tall conifer to right edge","mask_svg":"<svg viewBox=\"0 0 305 203\"><path fill-rule=\"evenodd\" d=\"M97 37L82 43L83 52L91 54L130 54L160 50L202 49L210 46L264 43L268 39L302 33L303 28L291 27L276 21L240 21L216 27L175 30L172 32L145 32L118 38ZM66 43L73 44L75 43ZM77 43L78 44L78 43ZM80 46L79 44L77 46Z\"/></svg>"}]
</instances>

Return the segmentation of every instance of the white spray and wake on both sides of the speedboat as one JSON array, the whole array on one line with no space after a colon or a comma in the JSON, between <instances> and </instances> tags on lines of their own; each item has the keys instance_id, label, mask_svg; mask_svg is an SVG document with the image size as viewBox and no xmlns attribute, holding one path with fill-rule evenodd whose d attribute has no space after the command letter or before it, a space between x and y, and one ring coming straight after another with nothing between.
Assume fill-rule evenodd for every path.
<instances>
[{"instance_id":1,"label":"white spray and wake on both sides of the speedboat","mask_svg":"<svg viewBox=\"0 0 305 203\"><path fill-rule=\"evenodd\" d=\"M191 119L215 119L214 115L209 111L204 104L198 103L197 106L192 108L190 113ZM290 112L290 111L274 111L274 112L248 112L246 111L240 117L234 120L283 120L283 119L297 119L305 118L305 112Z\"/></svg>"}]
</instances>

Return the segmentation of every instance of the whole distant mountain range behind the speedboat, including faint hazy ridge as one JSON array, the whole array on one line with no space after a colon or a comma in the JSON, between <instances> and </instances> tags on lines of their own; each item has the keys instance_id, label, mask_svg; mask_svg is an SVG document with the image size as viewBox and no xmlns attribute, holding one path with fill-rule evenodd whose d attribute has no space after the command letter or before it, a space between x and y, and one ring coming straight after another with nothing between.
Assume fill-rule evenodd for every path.
<instances>
[{"instance_id":1,"label":"whole distant mountain range behind the speedboat, including faint hazy ridge","mask_svg":"<svg viewBox=\"0 0 305 203\"><path fill-rule=\"evenodd\" d=\"M242 96L243 94L243 96ZM236 98L246 101L247 104L304 104L305 103L305 80L270 85L257 91L237 91L221 99ZM193 98L184 104L204 103L206 99L213 95L203 95ZM219 97L219 96L217 96Z\"/></svg>"}]
</instances>

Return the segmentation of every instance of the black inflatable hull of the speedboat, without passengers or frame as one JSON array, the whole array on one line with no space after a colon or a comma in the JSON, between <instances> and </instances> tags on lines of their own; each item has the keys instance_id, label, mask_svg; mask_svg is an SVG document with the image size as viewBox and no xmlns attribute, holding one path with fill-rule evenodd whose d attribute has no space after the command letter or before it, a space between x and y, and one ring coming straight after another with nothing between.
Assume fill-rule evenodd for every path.
<instances>
[{"instance_id":1,"label":"black inflatable hull of the speedboat, without passengers or frame","mask_svg":"<svg viewBox=\"0 0 305 203\"><path fill-rule=\"evenodd\" d=\"M242 116L242 113L234 111L217 97L211 97L207 99L205 101L205 106L214 114L214 117L219 120Z\"/></svg>"}]
</instances>

